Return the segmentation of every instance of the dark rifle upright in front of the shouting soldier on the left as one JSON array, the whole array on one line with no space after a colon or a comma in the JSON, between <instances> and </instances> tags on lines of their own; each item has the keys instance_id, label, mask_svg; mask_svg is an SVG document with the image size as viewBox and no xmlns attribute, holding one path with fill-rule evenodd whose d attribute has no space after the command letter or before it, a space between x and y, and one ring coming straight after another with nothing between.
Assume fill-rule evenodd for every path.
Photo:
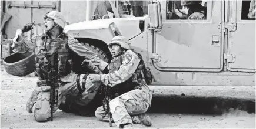
<instances>
[{"instance_id":1,"label":"dark rifle upright in front of the shouting soldier on the left","mask_svg":"<svg viewBox=\"0 0 256 129\"><path fill-rule=\"evenodd\" d=\"M58 77L58 55L57 53L45 55L48 63L50 71L48 73L48 80L46 80L47 85L51 86L50 90L50 107L51 107L51 117L48 118L48 121L53 120L53 114L54 114L54 105L58 104L58 90L56 90L56 87L58 87L57 80L59 80Z\"/></svg>"}]
</instances>

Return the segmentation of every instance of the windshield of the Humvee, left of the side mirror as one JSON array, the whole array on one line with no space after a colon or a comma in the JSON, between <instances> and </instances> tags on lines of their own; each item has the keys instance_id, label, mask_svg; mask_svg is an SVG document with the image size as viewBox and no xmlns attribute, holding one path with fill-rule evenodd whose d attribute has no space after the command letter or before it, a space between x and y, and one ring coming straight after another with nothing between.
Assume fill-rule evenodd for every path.
<instances>
[{"instance_id":1,"label":"windshield of the Humvee, left of the side mirror","mask_svg":"<svg viewBox=\"0 0 256 129\"><path fill-rule=\"evenodd\" d=\"M118 1L118 13L121 18L142 17L148 14L148 1Z\"/></svg>"}]
</instances>

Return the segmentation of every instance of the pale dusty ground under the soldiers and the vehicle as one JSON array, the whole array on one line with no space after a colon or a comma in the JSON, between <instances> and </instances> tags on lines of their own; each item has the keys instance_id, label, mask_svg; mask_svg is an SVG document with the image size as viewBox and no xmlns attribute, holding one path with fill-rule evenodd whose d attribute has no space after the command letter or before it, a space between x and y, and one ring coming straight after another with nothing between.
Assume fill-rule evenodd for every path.
<instances>
[{"instance_id":1,"label":"pale dusty ground under the soldiers and the vehicle","mask_svg":"<svg viewBox=\"0 0 256 129\"><path fill-rule=\"evenodd\" d=\"M26 111L28 100L35 86L36 77L8 75L1 67L1 128L111 128L96 117L83 117L58 110L54 121L37 123ZM234 90L234 88L232 88ZM252 88L253 89L253 88ZM164 90L155 89L155 93ZM189 93L185 93L186 95ZM255 96L255 87L252 96ZM231 110L222 115L148 113L152 120L150 128L255 128L255 114ZM117 128L112 124L112 128ZM135 128L145 128L135 125Z\"/></svg>"}]
</instances>

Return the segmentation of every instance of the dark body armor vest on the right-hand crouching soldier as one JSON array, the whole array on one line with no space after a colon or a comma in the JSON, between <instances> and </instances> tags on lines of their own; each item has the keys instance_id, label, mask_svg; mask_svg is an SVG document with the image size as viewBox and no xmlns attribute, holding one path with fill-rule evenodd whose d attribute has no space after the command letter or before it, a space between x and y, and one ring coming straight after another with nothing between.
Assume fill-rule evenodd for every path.
<instances>
[{"instance_id":1,"label":"dark body armor vest on the right-hand crouching soldier","mask_svg":"<svg viewBox=\"0 0 256 129\"><path fill-rule=\"evenodd\" d=\"M111 63L109 63L107 67L109 70L109 73L119 70L123 59L124 59L124 53L121 53L120 56L117 57L117 59L111 60ZM141 74L141 70L142 70L141 65L142 65L142 62L139 62L139 65L135 70L134 74L132 74L132 77L130 77L125 82L122 82L120 84L117 84L117 86L115 86L117 89L117 93L119 95L127 93L128 91L131 91L136 87L141 86L141 83L143 83L143 78Z\"/></svg>"}]
</instances>

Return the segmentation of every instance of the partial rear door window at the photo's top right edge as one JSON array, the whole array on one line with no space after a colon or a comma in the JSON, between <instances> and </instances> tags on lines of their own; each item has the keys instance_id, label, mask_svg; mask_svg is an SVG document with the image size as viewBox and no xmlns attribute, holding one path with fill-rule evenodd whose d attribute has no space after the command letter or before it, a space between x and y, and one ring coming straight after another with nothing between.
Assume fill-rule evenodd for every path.
<instances>
[{"instance_id":1,"label":"partial rear door window at the photo's top right edge","mask_svg":"<svg viewBox=\"0 0 256 129\"><path fill-rule=\"evenodd\" d=\"M242 20L255 20L255 0L242 1Z\"/></svg>"}]
</instances>

